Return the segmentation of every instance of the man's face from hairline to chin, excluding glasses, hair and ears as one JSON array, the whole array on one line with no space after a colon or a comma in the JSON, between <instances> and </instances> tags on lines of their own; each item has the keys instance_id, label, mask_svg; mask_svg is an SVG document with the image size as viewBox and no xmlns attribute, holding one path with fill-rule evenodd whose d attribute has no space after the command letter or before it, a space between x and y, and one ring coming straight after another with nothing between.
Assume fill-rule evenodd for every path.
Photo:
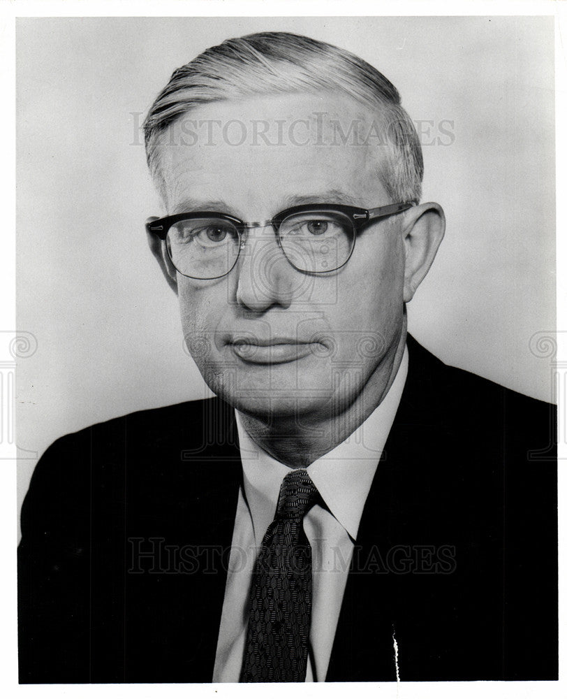
<instances>
[{"instance_id":1,"label":"man's face from hairline to chin, excluding glasses, hair and ears","mask_svg":"<svg viewBox=\"0 0 567 699\"><path fill-rule=\"evenodd\" d=\"M325 119L309 139L307 124L296 120L313 127L321 112ZM390 203L377 175L383 153L376 140L344 143L332 124L337 120L346 134L357 120L367 133L373 119L346 97L307 94L194 108L159 146L168 214L212 210L264 222L296 204ZM212 391L249 415L307 421L337 415L362 389L377 404L404 322L404 244L396 219L364 229L348 263L330 273L293 268L272 226L248 231L223 278L177 273L184 338Z\"/></svg>"}]
</instances>

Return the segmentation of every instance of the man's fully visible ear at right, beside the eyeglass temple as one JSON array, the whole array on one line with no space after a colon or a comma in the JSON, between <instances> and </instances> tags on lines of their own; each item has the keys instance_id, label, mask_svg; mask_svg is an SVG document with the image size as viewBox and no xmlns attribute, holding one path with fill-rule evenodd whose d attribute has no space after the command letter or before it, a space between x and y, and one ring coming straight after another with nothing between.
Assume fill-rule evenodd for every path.
<instances>
[{"instance_id":1,"label":"man's fully visible ear at right, beside the eyeglass temple","mask_svg":"<svg viewBox=\"0 0 567 699\"><path fill-rule=\"evenodd\" d=\"M445 214L439 204L428 202L404 212L402 224L406 267L404 302L408 303L435 259L445 234Z\"/></svg>"}]
</instances>

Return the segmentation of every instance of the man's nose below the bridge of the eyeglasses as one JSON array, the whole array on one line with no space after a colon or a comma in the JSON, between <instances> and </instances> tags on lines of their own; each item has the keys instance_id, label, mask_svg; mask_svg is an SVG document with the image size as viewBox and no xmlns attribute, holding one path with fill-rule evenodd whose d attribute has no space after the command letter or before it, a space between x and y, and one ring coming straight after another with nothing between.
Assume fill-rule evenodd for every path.
<instances>
[{"instance_id":1,"label":"man's nose below the bridge of the eyeglasses","mask_svg":"<svg viewBox=\"0 0 567 699\"><path fill-rule=\"evenodd\" d=\"M302 280L277 243L271 224L248 229L237 262L236 301L255 312L288 308Z\"/></svg>"}]
</instances>

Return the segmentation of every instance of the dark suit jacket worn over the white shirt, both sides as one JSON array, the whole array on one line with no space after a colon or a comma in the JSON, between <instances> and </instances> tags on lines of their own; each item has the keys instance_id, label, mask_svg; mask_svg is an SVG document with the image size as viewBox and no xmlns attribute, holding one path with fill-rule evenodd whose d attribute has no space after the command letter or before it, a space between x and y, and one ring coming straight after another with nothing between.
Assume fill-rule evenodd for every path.
<instances>
[{"instance_id":1,"label":"dark suit jacket worn over the white shirt, both sides","mask_svg":"<svg viewBox=\"0 0 567 699\"><path fill-rule=\"evenodd\" d=\"M408 338L327 681L557 679L554 412ZM212 399L61 438L22 510L20 682L210 682L241 463ZM140 554L147 554L146 556Z\"/></svg>"}]
</instances>

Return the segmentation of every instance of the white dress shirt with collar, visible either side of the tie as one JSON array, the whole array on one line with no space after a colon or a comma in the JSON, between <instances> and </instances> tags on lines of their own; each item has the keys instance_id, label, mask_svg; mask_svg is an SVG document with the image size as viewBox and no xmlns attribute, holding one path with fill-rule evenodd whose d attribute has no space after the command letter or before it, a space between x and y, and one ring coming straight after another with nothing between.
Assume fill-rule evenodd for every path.
<instances>
[{"instance_id":1,"label":"white dress shirt with collar, visible either side of the tie","mask_svg":"<svg viewBox=\"0 0 567 699\"><path fill-rule=\"evenodd\" d=\"M402 397L408 371L404 349L388 394L358 429L307 467L325 507L314 505L303 526L313 560L311 631L306 682L324 682L339 621L354 542L374 473ZM250 438L236 412L244 472L224 594L213 682L238 682L248 626L253 566L272 523L279 489L290 467Z\"/></svg>"}]
</instances>

